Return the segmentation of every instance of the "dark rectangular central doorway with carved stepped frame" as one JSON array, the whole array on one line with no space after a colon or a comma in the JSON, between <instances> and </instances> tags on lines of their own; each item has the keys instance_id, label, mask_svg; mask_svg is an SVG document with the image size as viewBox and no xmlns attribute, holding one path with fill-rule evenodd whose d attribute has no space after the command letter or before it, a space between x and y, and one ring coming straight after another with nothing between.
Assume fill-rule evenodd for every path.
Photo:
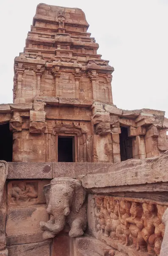
<instances>
[{"instance_id":1,"label":"dark rectangular central doorway with carved stepped frame","mask_svg":"<svg viewBox=\"0 0 168 256\"><path fill-rule=\"evenodd\" d=\"M74 137L58 137L58 162L74 161Z\"/></svg>"}]
</instances>

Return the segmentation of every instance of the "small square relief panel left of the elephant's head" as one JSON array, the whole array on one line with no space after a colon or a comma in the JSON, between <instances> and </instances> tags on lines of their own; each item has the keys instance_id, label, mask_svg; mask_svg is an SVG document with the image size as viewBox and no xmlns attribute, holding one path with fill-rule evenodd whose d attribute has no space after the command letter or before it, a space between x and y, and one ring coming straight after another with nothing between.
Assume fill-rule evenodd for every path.
<instances>
[{"instance_id":1,"label":"small square relief panel left of the elephant's head","mask_svg":"<svg viewBox=\"0 0 168 256\"><path fill-rule=\"evenodd\" d=\"M8 193L10 204L36 204L38 193L36 183L25 181L14 181L9 184Z\"/></svg>"}]
</instances>

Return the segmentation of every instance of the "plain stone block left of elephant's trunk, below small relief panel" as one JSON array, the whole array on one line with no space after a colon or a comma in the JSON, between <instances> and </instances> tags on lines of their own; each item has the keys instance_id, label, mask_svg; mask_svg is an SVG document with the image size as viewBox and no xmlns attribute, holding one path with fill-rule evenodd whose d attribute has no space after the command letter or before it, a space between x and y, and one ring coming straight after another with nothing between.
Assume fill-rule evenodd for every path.
<instances>
[{"instance_id":1,"label":"plain stone block left of elephant's trunk, below small relief panel","mask_svg":"<svg viewBox=\"0 0 168 256\"><path fill-rule=\"evenodd\" d=\"M10 207L6 221L7 244L24 244L42 241L40 221L48 221L45 205Z\"/></svg>"}]
</instances>

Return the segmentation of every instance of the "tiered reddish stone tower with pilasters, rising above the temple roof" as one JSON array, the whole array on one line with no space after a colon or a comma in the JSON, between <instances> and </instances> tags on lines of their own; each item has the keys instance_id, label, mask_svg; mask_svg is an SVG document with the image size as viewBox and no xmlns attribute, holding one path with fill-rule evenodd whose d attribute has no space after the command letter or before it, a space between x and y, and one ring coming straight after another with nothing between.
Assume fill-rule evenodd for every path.
<instances>
[{"instance_id":1,"label":"tiered reddish stone tower with pilasters, rising above the temple roof","mask_svg":"<svg viewBox=\"0 0 168 256\"><path fill-rule=\"evenodd\" d=\"M14 60L14 102L62 97L112 103L109 61L78 8L39 4L24 52Z\"/></svg>"}]
</instances>

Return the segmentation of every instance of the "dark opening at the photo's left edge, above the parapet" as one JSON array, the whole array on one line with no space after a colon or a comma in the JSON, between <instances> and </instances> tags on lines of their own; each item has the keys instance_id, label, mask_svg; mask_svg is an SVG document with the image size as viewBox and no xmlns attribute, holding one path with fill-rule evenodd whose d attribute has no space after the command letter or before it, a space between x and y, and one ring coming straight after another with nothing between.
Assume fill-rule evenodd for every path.
<instances>
[{"instance_id":1,"label":"dark opening at the photo's left edge, above the parapet","mask_svg":"<svg viewBox=\"0 0 168 256\"><path fill-rule=\"evenodd\" d=\"M12 162L13 134L9 123L0 125L0 160Z\"/></svg>"}]
</instances>

